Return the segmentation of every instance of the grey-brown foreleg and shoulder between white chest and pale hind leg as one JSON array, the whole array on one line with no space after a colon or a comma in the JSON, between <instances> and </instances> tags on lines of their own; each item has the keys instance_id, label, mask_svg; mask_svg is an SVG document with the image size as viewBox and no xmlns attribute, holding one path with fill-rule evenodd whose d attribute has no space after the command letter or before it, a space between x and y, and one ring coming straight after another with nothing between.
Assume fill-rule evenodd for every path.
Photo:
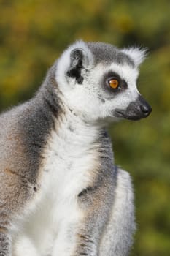
<instances>
[{"instance_id":1,"label":"grey-brown foreleg and shoulder between white chest and pale hind leg","mask_svg":"<svg viewBox=\"0 0 170 256\"><path fill-rule=\"evenodd\" d=\"M100 169L96 170L93 187L85 189L79 197L80 202L88 209L85 222L82 223L80 236L74 255L105 255L100 252L100 239L111 214L115 199L117 167L113 165L112 143L105 130L101 130L95 144L100 144L98 162ZM100 198L100 200L98 200Z\"/></svg>"}]
</instances>

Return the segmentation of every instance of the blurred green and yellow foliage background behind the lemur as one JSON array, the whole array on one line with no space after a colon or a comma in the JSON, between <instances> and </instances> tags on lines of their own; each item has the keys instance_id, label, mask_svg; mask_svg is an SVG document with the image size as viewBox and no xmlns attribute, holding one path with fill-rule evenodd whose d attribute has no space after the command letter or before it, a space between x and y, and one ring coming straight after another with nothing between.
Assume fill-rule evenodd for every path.
<instances>
[{"instance_id":1,"label":"blurred green and yellow foliage background behind the lemur","mask_svg":"<svg viewBox=\"0 0 170 256\"><path fill-rule=\"evenodd\" d=\"M0 0L0 110L29 99L75 39L149 48L138 87L152 115L109 129L116 163L134 179L131 255L170 255L169 27L169 0Z\"/></svg>"}]
</instances>

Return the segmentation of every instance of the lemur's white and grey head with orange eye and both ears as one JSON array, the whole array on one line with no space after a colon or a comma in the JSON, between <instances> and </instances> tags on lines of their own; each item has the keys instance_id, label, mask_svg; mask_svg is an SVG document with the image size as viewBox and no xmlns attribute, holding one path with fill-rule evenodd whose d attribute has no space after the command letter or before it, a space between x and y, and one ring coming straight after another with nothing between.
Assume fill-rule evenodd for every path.
<instances>
[{"instance_id":1,"label":"lemur's white and grey head with orange eye and both ears","mask_svg":"<svg viewBox=\"0 0 170 256\"><path fill-rule=\"evenodd\" d=\"M151 108L136 88L145 50L76 42L58 60L55 78L66 104L86 121L138 120Z\"/></svg>"}]
</instances>

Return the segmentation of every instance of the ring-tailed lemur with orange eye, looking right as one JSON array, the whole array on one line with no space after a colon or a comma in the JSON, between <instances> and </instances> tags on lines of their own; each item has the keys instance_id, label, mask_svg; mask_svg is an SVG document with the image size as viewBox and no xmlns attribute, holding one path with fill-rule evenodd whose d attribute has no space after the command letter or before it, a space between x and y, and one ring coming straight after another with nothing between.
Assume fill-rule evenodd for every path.
<instances>
[{"instance_id":1,"label":"ring-tailed lemur with orange eye, looking right","mask_svg":"<svg viewBox=\"0 0 170 256\"><path fill-rule=\"evenodd\" d=\"M1 113L1 256L128 255L133 187L106 127L150 114L136 89L144 56L77 41L32 99Z\"/></svg>"}]
</instances>

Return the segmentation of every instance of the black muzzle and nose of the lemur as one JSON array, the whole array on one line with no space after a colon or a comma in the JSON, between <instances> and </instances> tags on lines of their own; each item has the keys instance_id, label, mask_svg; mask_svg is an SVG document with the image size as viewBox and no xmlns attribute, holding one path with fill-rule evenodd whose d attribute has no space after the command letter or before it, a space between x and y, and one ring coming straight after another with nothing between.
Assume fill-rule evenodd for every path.
<instances>
[{"instance_id":1,"label":"black muzzle and nose of the lemur","mask_svg":"<svg viewBox=\"0 0 170 256\"><path fill-rule=\"evenodd\" d=\"M115 116L129 120L139 120L150 115L152 108L146 100L139 95L135 102L131 102L125 110L115 110Z\"/></svg>"}]
</instances>

